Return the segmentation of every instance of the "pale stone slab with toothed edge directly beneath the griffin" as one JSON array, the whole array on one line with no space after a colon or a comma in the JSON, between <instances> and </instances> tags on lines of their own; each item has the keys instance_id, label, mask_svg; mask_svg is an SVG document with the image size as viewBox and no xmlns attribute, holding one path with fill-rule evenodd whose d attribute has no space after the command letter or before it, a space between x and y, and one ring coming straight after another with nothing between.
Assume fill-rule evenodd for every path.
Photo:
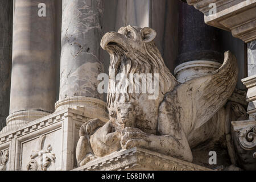
<instances>
[{"instance_id":1,"label":"pale stone slab with toothed edge directly beneath the griffin","mask_svg":"<svg viewBox=\"0 0 256 182\"><path fill-rule=\"evenodd\" d=\"M73 171L211 171L211 169L143 148L131 148L98 158Z\"/></svg>"}]
</instances>

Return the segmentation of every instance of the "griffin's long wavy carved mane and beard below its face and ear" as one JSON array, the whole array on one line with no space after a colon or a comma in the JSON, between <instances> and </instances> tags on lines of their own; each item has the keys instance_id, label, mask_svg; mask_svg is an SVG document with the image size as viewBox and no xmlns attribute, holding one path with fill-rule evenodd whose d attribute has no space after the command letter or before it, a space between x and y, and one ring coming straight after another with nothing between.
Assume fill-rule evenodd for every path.
<instances>
[{"instance_id":1,"label":"griffin's long wavy carved mane and beard below its face and ear","mask_svg":"<svg viewBox=\"0 0 256 182\"><path fill-rule=\"evenodd\" d=\"M115 93L114 91L121 90L123 85L122 80L114 81L115 90L110 88L111 81L113 81L113 76L111 75L113 74L112 71L115 71L114 76L117 76L118 73L123 73L127 78L129 78L130 73L137 73L138 75L141 75L142 73L151 73L153 77L154 73L159 73L159 93L162 93L163 95L173 90L177 85L176 78L164 64L164 60L155 43L143 43L143 49L144 53L134 50L133 53L127 54L121 47L117 47L110 53L109 87L107 97L108 107L114 106L114 102L118 102L121 98L123 98L122 102L131 102L131 99L139 100L139 97L141 96L141 78L139 80L139 93L129 93L129 86L127 87L126 93ZM133 86L133 89L135 89L136 85L134 80L130 84Z\"/></svg>"}]
</instances>

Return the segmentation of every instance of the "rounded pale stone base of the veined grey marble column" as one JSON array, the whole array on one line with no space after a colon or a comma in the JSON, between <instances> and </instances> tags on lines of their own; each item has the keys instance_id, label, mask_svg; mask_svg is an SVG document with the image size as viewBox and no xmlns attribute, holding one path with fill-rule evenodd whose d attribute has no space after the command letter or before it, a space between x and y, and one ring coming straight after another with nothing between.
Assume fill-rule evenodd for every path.
<instances>
[{"instance_id":1,"label":"rounded pale stone base of the veined grey marble column","mask_svg":"<svg viewBox=\"0 0 256 182\"><path fill-rule=\"evenodd\" d=\"M108 114L106 113L106 103L97 98L75 96L64 98L55 103L55 111L67 108L84 110L86 115L90 115L92 118L108 118Z\"/></svg>"}]
</instances>

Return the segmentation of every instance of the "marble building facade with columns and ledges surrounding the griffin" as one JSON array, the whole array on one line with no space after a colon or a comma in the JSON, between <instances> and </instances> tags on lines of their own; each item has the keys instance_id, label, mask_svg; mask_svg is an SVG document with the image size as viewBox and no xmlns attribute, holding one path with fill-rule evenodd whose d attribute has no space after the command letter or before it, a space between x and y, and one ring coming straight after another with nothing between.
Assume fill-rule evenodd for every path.
<instances>
[{"instance_id":1,"label":"marble building facade with columns and ledges surrounding the griffin","mask_svg":"<svg viewBox=\"0 0 256 182\"><path fill-rule=\"evenodd\" d=\"M255 0L3 0L0 10L0 170L256 169ZM178 85L220 70L230 58L226 51L236 59L236 88L223 90L232 94L214 102L223 104L209 109L214 111L202 123L204 129L185 134L192 160L164 155L154 147L123 148L100 157L93 154L92 140L86 143L81 134L83 127L88 132L91 119L105 124L112 118L109 93L98 91L98 75L110 75L112 61L102 37L129 25L142 28L134 31L140 31L145 45L155 30L160 53L155 55L162 57ZM136 55L135 49L131 52ZM236 77L226 74L230 80ZM205 105L220 96L215 90L223 85L217 79ZM96 125L94 130L105 126ZM92 145L90 159L81 148L84 143ZM81 163L85 155L88 161Z\"/></svg>"}]
</instances>

